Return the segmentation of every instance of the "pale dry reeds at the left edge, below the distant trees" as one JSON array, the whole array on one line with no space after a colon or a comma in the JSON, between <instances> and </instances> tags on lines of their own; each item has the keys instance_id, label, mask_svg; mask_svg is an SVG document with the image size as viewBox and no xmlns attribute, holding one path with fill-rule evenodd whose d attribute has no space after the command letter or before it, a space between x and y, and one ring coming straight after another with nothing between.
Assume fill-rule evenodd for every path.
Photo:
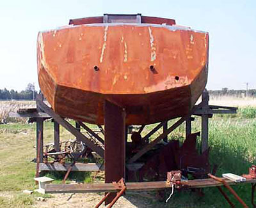
<instances>
[{"instance_id":1,"label":"pale dry reeds at the left edge, below the distant trees","mask_svg":"<svg viewBox=\"0 0 256 208\"><path fill-rule=\"evenodd\" d=\"M19 108L34 108L35 101L0 101L0 123L25 121L9 117L10 112L17 112Z\"/></svg>"}]
</instances>

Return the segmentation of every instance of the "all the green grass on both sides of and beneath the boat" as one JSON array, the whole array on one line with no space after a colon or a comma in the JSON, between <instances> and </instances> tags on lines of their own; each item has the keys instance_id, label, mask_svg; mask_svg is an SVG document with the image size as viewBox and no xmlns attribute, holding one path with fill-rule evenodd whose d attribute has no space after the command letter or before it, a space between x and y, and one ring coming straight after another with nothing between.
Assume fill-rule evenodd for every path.
<instances>
[{"instance_id":1,"label":"all the green grass on both sides of and beneath the boat","mask_svg":"<svg viewBox=\"0 0 256 208\"><path fill-rule=\"evenodd\" d=\"M200 130L200 118L196 117L192 125L193 132ZM148 126L145 132L153 126ZM180 126L169 135L169 139L183 140L183 136L184 126ZM45 142L52 142L52 137L52 123L45 122ZM61 128L61 138L73 137ZM0 125L0 207L32 207L35 204L35 198L39 194L24 195L22 193L24 189L36 188L33 181L35 163L31 163L35 158L34 145L35 124ZM211 164L218 165L218 176L227 172L247 173L248 167L255 163L256 159L256 108L243 107L238 110L237 115L214 115L209 123L209 146L211 147L210 161ZM88 174L79 175L79 178L86 182L90 181ZM60 182L61 177L57 175L56 179L55 182ZM234 189L244 202L250 205L250 184L239 185ZM166 197L169 193L170 190L166 191ZM205 188L204 193L204 197L198 197L191 191L175 191L168 204L152 201L152 207L228 207L218 189ZM234 198L232 201L236 202ZM240 205L237 204L237 207Z\"/></svg>"}]
</instances>

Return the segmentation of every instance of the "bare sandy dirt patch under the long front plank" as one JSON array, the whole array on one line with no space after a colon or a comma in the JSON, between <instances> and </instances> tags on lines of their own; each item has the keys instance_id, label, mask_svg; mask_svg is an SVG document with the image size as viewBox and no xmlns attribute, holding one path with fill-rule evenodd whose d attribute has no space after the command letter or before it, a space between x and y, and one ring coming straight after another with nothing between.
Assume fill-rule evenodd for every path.
<instances>
[{"instance_id":1,"label":"bare sandy dirt patch under the long front plank","mask_svg":"<svg viewBox=\"0 0 256 208\"><path fill-rule=\"evenodd\" d=\"M144 194L145 195L145 194ZM97 193L76 193L76 194L54 194L52 198L45 198L45 201L37 201L34 207L40 208L76 208L76 207L95 207L102 199L103 194ZM150 197L150 195L148 195ZM119 198L113 208L146 208L155 207L152 200L148 197L142 197L136 193L127 193L125 197ZM100 207L105 207L101 205Z\"/></svg>"}]
</instances>

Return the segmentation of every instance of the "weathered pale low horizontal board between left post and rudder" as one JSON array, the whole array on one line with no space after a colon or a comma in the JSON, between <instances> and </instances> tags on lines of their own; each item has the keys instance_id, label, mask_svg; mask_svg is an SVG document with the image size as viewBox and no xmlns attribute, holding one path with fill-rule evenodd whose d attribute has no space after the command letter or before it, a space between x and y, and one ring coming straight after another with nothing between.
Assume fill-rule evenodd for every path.
<instances>
[{"instance_id":1,"label":"weathered pale low horizontal board between left post and rudder","mask_svg":"<svg viewBox=\"0 0 256 208\"><path fill-rule=\"evenodd\" d=\"M45 164L40 163L39 170L47 170L47 171L67 171L70 167L70 163L53 163L53 164ZM104 170L104 166L102 164L96 164L96 163L75 163L74 166L72 166L72 171L100 171Z\"/></svg>"}]
</instances>

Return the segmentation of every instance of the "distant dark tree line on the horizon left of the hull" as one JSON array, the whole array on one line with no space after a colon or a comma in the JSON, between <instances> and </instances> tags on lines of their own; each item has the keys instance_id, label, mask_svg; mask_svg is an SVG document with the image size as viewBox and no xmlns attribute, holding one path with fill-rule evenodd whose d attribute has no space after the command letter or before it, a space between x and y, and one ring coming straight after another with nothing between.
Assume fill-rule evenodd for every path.
<instances>
[{"instance_id":1,"label":"distant dark tree line on the horizon left of the hull","mask_svg":"<svg viewBox=\"0 0 256 208\"><path fill-rule=\"evenodd\" d=\"M35 85L29 83L26 89L18 92L13 89L0 89L0 100L35 100L37 91Z\"/></svg>"}]
</instances>

